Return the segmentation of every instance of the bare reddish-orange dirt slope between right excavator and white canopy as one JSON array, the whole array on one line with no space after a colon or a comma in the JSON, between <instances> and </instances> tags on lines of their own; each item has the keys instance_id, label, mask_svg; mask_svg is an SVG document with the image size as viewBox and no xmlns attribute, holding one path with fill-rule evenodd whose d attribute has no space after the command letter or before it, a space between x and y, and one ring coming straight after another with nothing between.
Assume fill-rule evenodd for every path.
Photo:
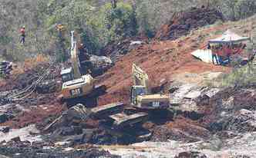
<instances>
[{"instance_id":1,"label":"bare reddish-orange dirt slope between right excavator and white canopy","mask_svg":"<svg viewBox=\"0 0 256 158\"><path fill-rule=\"evenodd\" d=\"M108 87L108 93L99 98L99 104L129 100L133 62L147 72L152 86L160 84L163 79L171 81L173 74L184 71L191 73L227 71L227 67L205 64L190 54L198 48L205 48L207 40L217 36L213 33L223 32L227 28L229 25L213 26L194 31L176 41L152 41L150 44L141 45L140 48L120 58L114 67L99 78L99 81Z\"/></svg>"}]
</instances>

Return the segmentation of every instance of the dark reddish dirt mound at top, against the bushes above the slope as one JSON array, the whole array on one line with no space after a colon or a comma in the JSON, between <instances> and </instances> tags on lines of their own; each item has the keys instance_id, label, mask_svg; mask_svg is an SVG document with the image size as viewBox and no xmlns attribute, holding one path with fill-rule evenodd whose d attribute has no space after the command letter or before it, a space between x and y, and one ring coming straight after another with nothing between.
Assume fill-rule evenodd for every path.
<instances>
[{"instance_id":1,"label":"dark reddish dirt mound at top, against the bushes above the slope","mask_svg":"<svg viewBox=\"0 0 256 158\"><path fill-rule=\"evenodd\" d=\"M194 28L212 25L217 20L223 20L223 15L216 9L191 8L187 12L174 14L171 21L160 28L156 38L175 40L183 35L188 35Z\"/></svg>"}]
</instances>

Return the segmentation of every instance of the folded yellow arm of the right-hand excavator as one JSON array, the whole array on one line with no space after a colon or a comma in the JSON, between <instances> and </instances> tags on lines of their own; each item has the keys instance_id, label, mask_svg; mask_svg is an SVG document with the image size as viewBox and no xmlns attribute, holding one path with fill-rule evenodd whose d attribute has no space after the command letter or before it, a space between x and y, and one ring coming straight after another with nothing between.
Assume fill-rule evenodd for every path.
<instances>
[{"instance_id":1,"label":"folded yellow arm of the right-hand excavator","mask_svg":"<svg viewBox=\"0 0 256 158\"><path fill-rule=\"evenodd\" d=\"M149 77L140 67L133 64L133 86L143 86L149 92Z\"/></svg>"}]
</instances>

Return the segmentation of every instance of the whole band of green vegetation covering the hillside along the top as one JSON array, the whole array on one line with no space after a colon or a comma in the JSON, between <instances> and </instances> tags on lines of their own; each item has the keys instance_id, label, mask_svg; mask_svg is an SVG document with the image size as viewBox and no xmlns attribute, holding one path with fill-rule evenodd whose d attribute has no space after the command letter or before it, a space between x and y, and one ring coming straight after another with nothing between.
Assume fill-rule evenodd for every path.
<instances>
[{"instance_id":1,"label":"whole band of green vegetation covering the hillside along the top","mask_svg":"<svg viewBox=\"0 0 256 158\"><path fill-rule=\"evenodd\" d=\"M0 53L8 60L24 60L34 54L60 54L59 42L69 48L69 31L99 54L109 41L136 35L153 38L174 12L190 7L218 8L227 20L239 20L256 12L254 0L130 0L116 8L103 0L0 0ZM60 40L56 25L66 27ZM25 25L25 45L19 44L19 28ZM65 52L62 52L65 53Z\"/></svg>"}]
</instances>

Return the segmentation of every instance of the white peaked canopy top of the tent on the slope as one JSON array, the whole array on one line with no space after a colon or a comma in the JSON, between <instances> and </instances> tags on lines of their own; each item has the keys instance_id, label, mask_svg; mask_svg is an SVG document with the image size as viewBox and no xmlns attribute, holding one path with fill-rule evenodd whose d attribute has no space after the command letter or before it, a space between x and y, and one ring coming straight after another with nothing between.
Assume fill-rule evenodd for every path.
<instances>
[{"instance_id":1,"label":"white peaked canopy top of the tent on the slope","mask_svg":"<svg viewBox=\"0 0 256 158\"><path fill-rule=\"evenodd\" d=\"M250 38L241 37L240 35L236 35L231 31L225 31L224 34L220 38L212 39L209 43L228 43L228 42L241 42L248 41Z\"/></svg>"}]
</instances>

